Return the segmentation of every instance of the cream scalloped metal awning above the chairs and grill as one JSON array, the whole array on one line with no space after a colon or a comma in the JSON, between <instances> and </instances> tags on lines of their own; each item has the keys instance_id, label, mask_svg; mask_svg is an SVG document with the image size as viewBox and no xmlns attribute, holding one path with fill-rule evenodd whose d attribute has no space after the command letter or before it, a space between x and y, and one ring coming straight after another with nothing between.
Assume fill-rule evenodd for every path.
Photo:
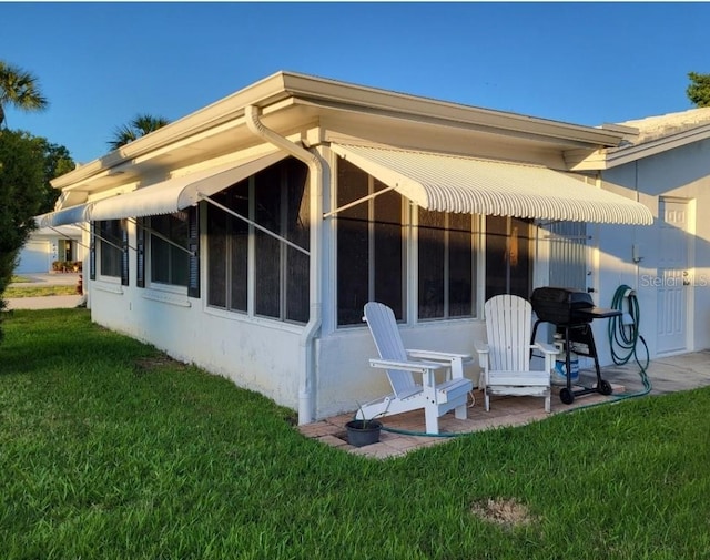
<instances>
[{"instance_id":1,"label":"cream scalloped metal awning above the chairs and grill","mask_svg":"<svg viewBox=\"0 0 710 560\"><path fill-rule=\"evenodd\" d=\"M455 155L331 144L423 208L497 216L653 223L642 204L548 167Z\"/></svg>"}]
</instances>

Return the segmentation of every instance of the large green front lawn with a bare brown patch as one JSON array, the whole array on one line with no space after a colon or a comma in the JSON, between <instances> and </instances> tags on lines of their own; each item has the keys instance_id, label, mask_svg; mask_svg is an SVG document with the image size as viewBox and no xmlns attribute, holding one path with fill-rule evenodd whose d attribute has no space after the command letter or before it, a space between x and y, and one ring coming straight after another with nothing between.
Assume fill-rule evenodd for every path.
<instances>
[{"instance_id":1,"label":"large green front lawn with a bare brown patch","mask_svg":"<svg viewBox=\"0 0 710 560\"><path fill-rule=\"evenodd\" d=\"M710 557L708 389L377 461L84 309L3 325L3 559Z\"/></svg>"}]
</instances>

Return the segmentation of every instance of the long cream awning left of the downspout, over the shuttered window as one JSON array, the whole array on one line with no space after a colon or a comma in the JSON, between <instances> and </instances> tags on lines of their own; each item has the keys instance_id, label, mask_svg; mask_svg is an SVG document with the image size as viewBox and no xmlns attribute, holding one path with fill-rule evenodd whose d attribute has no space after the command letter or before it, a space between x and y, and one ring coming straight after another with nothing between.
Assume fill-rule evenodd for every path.
<instances>
[{"instance_id":1,"label":"long cream awning left of the downspout, over the shuttered window","mask_svg":"<svg viewBox=\"0 0 710 560\"><path fill-rule=\"evenodd\" d=\"M111 196L95 202L89 217L93 221L172 214L194 206L205 196L219 193L265 170L285 159L286 155L284 152L275 152L256 160L231 163L183 177L169 179L128 194Z\"/></svg>"}]
</instances>

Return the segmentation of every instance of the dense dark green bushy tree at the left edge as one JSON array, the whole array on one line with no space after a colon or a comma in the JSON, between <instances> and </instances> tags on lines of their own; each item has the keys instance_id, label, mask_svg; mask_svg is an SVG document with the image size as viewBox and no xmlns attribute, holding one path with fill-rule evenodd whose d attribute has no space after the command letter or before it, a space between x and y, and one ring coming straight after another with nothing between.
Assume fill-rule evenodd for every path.
<instances>
[{"instance_id":1,"label":"dense dark green bushy tree at the left edge","mask_svg":"<svg viewBox=\"0 0 710 560\"><path fill-rule=\"evenodd\" d=\"M0 131L0 310L18 253L36 228L33 216L42 204L43 140L27 132Z\"/></svg>"}]
</instances>

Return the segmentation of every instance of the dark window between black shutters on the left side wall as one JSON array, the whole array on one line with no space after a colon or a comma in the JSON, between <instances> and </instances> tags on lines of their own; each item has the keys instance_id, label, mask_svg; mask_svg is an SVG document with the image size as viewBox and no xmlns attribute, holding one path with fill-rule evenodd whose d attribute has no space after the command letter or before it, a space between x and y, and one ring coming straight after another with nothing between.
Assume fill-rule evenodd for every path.
<instances>
[{"instance_id":1,"label":"dark window between black shutters on the left side wall","mask_svg":"<svg viewBox=\"0 0 710 560\"><path fill-rule=\"evenodd\" d=\"M187 212L152 216L148 226L151 282L187 286Z\"/></svg>"}]
</instances>

